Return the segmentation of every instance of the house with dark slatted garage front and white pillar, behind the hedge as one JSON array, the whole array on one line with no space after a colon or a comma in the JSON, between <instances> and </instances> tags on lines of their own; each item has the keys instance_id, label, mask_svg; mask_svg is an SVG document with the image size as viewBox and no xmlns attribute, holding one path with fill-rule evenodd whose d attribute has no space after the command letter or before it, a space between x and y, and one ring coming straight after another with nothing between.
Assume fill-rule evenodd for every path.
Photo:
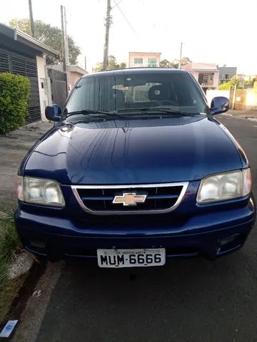
<instances>
[{"instance_id":1,"label":"house with dark slatted garage front and white pillar, behind the hedge","mask_svg":"<svg viewBox=\"0 0 257 342\"><path fill-rule=\"evenodd\" d=\"M44 109L51 103L46 86L46 53L59 56L59 51L28 34L0 24L0 73L23 75L31 82L26 123L44 120Z\"/></svg>"}]
</instances>

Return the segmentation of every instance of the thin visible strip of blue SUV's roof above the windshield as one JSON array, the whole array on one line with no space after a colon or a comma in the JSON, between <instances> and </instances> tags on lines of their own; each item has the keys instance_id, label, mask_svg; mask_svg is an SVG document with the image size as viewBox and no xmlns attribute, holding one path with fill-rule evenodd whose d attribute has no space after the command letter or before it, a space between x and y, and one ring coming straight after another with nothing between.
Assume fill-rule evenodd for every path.
<instances>
[{"instance_id":1,"label":"thin visible strip of blue SUV's roof above the windshield","mask_svg":"<svg viewBox=\"0 0 257 342\"><path fill-rule=\"evenodd\" d=\"M88 75L82 76L82 78L88 77L98 77L98 76L111 76L111 75L125 75L125 74L136 74L136 73L188 73L187 71L181 69L172 68L125 68L125 69L115 69L107 71L99 71L99 73L90 73Z\"/></svg>"}]
</instances>

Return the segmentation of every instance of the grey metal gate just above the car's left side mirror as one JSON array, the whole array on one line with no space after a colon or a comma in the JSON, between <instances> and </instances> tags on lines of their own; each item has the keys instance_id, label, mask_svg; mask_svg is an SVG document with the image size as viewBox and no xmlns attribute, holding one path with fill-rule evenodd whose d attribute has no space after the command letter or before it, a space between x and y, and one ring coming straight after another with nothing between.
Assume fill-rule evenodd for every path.
<instances>
[{"instance_id":1,"label":"grey metal gate just above the car's left side mirror","mask_svg":"<svg viewBox=\"0 0 257 342\"><path fill-rule=\"evenodd\" d=\"M64 71L49 69L49 78L51 81L51 100L64 108L64 103L67 98L67 76Z\"/></svg>"}]
</instances>

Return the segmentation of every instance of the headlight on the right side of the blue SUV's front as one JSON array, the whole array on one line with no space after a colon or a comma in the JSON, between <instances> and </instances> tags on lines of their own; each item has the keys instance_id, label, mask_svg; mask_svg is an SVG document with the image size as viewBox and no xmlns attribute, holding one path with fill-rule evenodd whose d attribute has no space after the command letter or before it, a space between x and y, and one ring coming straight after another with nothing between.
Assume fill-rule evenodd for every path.
<instances>
[{"instance_id":1,"label":"headlight on the right side of the blue SUV's front","mask_svg":"<svg viewBox=\"0 0 257 342\"><path fill-rule=\"evenodd\" d=\"M251 170L238 170L204 178L198 190L199 204L239 198L251 192Z\"/></svg>"}]
</instances>

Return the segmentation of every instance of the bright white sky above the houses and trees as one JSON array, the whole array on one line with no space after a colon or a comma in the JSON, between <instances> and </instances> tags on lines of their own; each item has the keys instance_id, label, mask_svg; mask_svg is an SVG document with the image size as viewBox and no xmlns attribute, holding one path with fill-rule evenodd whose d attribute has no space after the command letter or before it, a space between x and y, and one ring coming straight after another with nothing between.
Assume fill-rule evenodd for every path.
<instances>
[{"instance_id":1,"label":"bright white sky above the houses and trees","mask_svg":"<svg viewBox=\"0 0 257 342\"><path fill-rule=\"evenodd\" d=\"M28 0L4 4L1 23L29 17ZM79 65L84 66L86 56L91 71L103 60L106 0L32 0L32 4L34 20L59 28L63 4L67 31L81 47ZM173 61L179 58L182 41L182 56L193 62L257 73L256 0L111 0L111 6L109 55L119 63L127 63L129 51L161 52L161 58Z\"/></svg>"}]
</instances>

